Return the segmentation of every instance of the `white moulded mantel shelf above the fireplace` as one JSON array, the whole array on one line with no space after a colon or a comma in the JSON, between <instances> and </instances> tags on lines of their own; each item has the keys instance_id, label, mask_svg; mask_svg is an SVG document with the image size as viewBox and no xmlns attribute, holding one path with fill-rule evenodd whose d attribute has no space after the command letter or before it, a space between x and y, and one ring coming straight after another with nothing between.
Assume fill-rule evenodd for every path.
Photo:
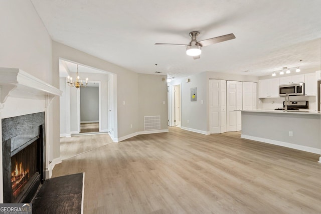
<instances>
[{"instance_id":1,"label":"white moulded mantel shelf above the fireplace","mask_svg":"<svg viewBox=\"0 0 321 214\"><path fill-rule=\"evenodd\" d=\"M19 68L0 68L0 109L9 96L21 98L50 98L61 96L62 91L24 72Z\"/></svg>"}]
</instances>

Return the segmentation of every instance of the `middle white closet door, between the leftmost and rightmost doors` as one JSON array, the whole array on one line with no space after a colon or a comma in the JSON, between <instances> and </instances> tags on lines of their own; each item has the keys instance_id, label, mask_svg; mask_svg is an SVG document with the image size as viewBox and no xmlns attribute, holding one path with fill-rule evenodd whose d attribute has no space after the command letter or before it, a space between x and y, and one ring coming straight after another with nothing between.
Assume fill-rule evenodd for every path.
<instances>
[{"instance_id":1,"label":"middle white closet door, between the leftmost and rightmost doors","mask_svg":"<svg viewBox=\"0 0 321 214\"><path fill-rule=\"evenodd\" d=\"M241 112L243 108L243 83L238 81L226 81L226 130L241 130Z\"/></svg>"}]
</instances>

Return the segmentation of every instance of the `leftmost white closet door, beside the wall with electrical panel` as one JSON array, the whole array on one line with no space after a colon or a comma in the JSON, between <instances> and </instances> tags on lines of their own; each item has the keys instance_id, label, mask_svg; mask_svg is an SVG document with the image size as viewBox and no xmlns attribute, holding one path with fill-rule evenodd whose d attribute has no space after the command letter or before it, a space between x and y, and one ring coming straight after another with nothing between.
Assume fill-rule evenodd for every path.
<instances>
[{"instance_id":1,"label":"leftmost white closet door, beside the wall with electrical panel","mask_svg":"<svg viewBox=\"0 0 321 214\"><path fill-rule=\"evenodd\" d=\"M210 80L210 133L226 132L226 80Z\"/></svg>"}]
</instances>

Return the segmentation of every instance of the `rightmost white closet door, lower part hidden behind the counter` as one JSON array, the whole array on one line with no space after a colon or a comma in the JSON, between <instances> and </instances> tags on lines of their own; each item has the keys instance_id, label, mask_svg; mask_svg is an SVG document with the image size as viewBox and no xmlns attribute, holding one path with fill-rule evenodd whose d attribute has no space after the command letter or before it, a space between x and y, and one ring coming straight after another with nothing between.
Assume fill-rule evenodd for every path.
<instances>
[{"instance_id":1,"label":"rightmost white closet door, lower part hidden behind the counter","mask_svg":"<svg viewBox=\"0 0 321 214\"><path fill-rule=\"evenodd\" d=\"M243 82L243 110L255 110L257 108L257 84Z\"/></svg>"}]
</instances>

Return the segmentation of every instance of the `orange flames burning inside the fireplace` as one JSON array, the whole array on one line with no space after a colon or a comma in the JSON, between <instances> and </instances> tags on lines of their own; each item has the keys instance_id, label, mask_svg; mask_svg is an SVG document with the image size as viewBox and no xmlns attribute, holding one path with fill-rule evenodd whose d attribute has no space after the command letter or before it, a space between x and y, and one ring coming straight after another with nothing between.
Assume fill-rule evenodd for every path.
<instances>
[{"instance_id":1,"label":"orange flames burning inside the fireplace","mask_svg":"<svg viewBox=\"0 0 321 214\"><path fill-rule=\"evenodd\" d=\"M29 179L29 169L24 169L22 162L19 164L16 162L16 167L11 172L13 195L18 195Z\"/></svg>"}]
</instances>

